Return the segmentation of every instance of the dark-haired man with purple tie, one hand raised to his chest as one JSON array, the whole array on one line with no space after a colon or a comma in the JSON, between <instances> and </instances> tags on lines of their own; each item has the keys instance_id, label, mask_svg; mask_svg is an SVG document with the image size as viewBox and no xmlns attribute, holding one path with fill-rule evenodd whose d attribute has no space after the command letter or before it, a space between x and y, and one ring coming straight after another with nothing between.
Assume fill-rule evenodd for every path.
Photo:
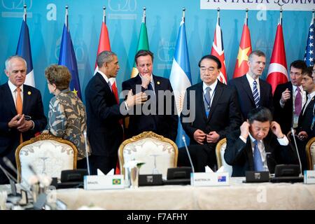
<instances>
[{"instance_id":1,"label":"dark-haired man with purple tie, one hand raised to his chest","mask_svg":"<svg viewBox=\"0 0 315 224\"><path fill-rule=\"evenodd\" d=\"M302 88L302 71L307 65L302 60L290 64L290 82L279 84L274 91L274 120L279 123L284 134L291 127L297 127L306 93Z\"/></svg>"}]
</instances>

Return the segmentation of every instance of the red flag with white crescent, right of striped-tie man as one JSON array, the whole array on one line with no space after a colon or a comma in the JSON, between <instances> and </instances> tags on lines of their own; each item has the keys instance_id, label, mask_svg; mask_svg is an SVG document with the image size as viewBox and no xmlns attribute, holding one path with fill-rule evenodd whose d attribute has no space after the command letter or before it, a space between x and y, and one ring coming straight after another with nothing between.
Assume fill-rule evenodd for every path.
<instances>
[{"instance_id":1,"label":"red flag with white crescent, right of striped-tie man","mask_svg":"<svg viewBox=\"0 0 315 224\"><path fill-rule=\"evenodd\" d=\"M274 94L274 90L276 90L276 85L288 82L286 50L284 49L283 31L280 24L276 27L274 49L272 50L272 57L270 59L266 80L272 85L272 94Z\"/></svg>"}]
</instances>

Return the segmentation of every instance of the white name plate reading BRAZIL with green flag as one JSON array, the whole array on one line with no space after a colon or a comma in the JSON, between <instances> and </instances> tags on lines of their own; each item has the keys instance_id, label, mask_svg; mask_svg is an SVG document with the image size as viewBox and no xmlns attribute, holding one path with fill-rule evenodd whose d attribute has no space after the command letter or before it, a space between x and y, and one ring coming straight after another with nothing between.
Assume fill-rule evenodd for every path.
<instances>
[{"instance_id":1,"label":"white name plate reading BRAZIL with green flag","mask_svg":"<svg viewBox=\"0 0 315 224\"><path fill-rule=\"evenodd\" d=\"M123 189L124 176L84 176L84 190Z\"/></svg>"}]
</instances>

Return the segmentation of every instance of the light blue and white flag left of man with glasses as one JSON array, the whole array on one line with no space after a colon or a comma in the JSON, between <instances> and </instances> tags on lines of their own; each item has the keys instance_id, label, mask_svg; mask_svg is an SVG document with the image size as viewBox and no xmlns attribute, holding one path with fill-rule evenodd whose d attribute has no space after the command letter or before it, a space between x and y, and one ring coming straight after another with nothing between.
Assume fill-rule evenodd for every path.
<instances>
[{"instance_id":1,"label":"light blue and white flag left of man with glasses","mask_svg":"<svg viewBox=\"0 0 315 224\"><path fill-rule=\"evenodd\" d=\"M177 36L176 49L169 80L174 90L177 113L180 116L181 111L183 110L183 99L185 97L186 89L190 87L192 83L184 18L182 18L181 25L179 27L179 34ZM181 126L181 121L179 120L179 128L177 130L176 138L176 144L179 147L184 146L182 140L183 134L185 134L185 132L183 130L183 127ZM189 141L187 141L187 143L189 144Z\"/></svg>"}]
</instances>

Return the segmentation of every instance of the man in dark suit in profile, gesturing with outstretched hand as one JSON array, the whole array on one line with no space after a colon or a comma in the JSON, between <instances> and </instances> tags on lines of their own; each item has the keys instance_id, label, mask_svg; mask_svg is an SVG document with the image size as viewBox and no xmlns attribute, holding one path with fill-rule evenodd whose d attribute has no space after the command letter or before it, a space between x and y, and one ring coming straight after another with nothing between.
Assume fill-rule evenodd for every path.
<instances>
[{"instance_id":1,"label":"man in dark suit in profile, gesturing with outstretched hand","mask_svg":"<svg viewBox=\"0 0 315 224\"><path fill-rule=\"evenodd\" d=\"M109 78L116 78L119 70L117 55L111 51L99 53L97 66L99 71L85 88L87 137L92 149L92 174L97 174L97 169L107 174L116 167L118 147L123 141L123 127L119 120L128 107L141 104L145 94L132 95L132 91L129 91L125 102L119 105L109 81Z\"/></svg>"}]
</instances>

